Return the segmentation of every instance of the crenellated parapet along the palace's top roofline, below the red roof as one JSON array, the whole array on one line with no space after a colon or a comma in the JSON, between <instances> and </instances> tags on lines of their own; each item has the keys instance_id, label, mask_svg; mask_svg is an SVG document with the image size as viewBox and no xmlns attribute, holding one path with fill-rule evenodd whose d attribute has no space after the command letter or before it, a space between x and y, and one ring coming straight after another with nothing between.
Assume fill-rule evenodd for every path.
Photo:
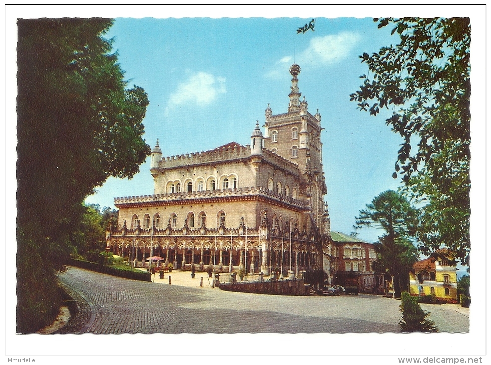
<instances>
[{"instance_id":1,"label":"crenellated parapet along the palace's top roofline, below the red roof","mask_svg":"<svg viewBox=\"0 0 491 365\"><path fill-rule=\"evenodd\" d=\"M251 149L248 146L233 145L221 149L212 149L196 153L186 153L177 156L162 157L158 168L174 168L189 165L207 164L211 162L231 161L236 159L248 158Z\"/></svg>"}]
</instances>

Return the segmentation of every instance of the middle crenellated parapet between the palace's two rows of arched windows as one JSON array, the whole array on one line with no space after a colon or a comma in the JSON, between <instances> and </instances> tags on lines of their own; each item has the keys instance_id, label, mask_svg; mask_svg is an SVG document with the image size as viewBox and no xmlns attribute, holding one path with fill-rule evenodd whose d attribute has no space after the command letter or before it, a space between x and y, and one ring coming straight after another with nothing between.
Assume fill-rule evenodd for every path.
<instances>
[{"instance_id":1,"label":"middle crenellated parapet between the palace's two rows of arched windows","mask_svg":"<svg viewBox=\"0 0 491 365\"><path fill-rule=\"evenodd\" d=\"M178 205L183 203L215 202L227 200L263 200L276 202L277 204L288 204L289 207L299 212L306 209L302 200L291 196L278 194L263 187L240 187L236 189L205 190L193 192L179 192L157 195L125 196L114 198L114 205L118 208L148 207Z\"/></svg>"}]
</instances>

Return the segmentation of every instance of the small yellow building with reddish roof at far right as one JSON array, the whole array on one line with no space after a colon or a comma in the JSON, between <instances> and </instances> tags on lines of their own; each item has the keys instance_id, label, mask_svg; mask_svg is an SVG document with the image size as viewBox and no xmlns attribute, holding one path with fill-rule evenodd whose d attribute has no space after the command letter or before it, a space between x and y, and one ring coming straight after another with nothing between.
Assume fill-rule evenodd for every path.
<instances>
[{"instance_id":1,"label":"small yellow building with reddish roof at far right","mask_svg":"<svg viewBox=\"0 0 491 365\"><path fill-rule=\"evenodd\" d=\"M457 268L451 253L446 249L418 261L409 273L410 294L431 295L455 299L457 296Z\"/></svg>"}]
</instances>

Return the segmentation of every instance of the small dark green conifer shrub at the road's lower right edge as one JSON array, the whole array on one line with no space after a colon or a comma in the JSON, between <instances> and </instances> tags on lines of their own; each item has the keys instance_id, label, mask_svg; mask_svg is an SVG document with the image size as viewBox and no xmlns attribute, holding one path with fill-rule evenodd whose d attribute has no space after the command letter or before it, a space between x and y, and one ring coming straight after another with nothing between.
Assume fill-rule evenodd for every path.
<instances>
[{"instance_id":1,"label":"small dark green conifer shrub at the road's lower right edge","mask_svg":"<svg viewBox=\"0 0 491 365\"><path fill-rule=\"evenodd\" d=\"M399 306L402 319L399 320L401 332L438 332L435 322L426 319L430 312L425 312L418 304L418 300L407 292L402 293L402 303Z\"/></svg>"}]
</instances>

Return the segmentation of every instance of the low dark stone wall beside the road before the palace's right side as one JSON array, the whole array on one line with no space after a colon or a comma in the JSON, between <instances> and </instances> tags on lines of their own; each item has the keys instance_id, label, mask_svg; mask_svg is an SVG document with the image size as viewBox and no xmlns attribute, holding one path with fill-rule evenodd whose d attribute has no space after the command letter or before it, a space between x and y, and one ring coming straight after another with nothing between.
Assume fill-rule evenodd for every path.
<instances>
[{"instance_id":1,"label":"low dark stone wall beside the road before the palace's right side","mask_svg":"<svg viewBox=\"0 0 491 365\"><path fill-rule=\"evenodd\" d=\"M267 281L248 281L236 283L220 283L220 289L226 291L238 291L254 294L272 295L308 295L308 285L304 285L304 279L285 279Z\"/></svg>"}]
</instances>

